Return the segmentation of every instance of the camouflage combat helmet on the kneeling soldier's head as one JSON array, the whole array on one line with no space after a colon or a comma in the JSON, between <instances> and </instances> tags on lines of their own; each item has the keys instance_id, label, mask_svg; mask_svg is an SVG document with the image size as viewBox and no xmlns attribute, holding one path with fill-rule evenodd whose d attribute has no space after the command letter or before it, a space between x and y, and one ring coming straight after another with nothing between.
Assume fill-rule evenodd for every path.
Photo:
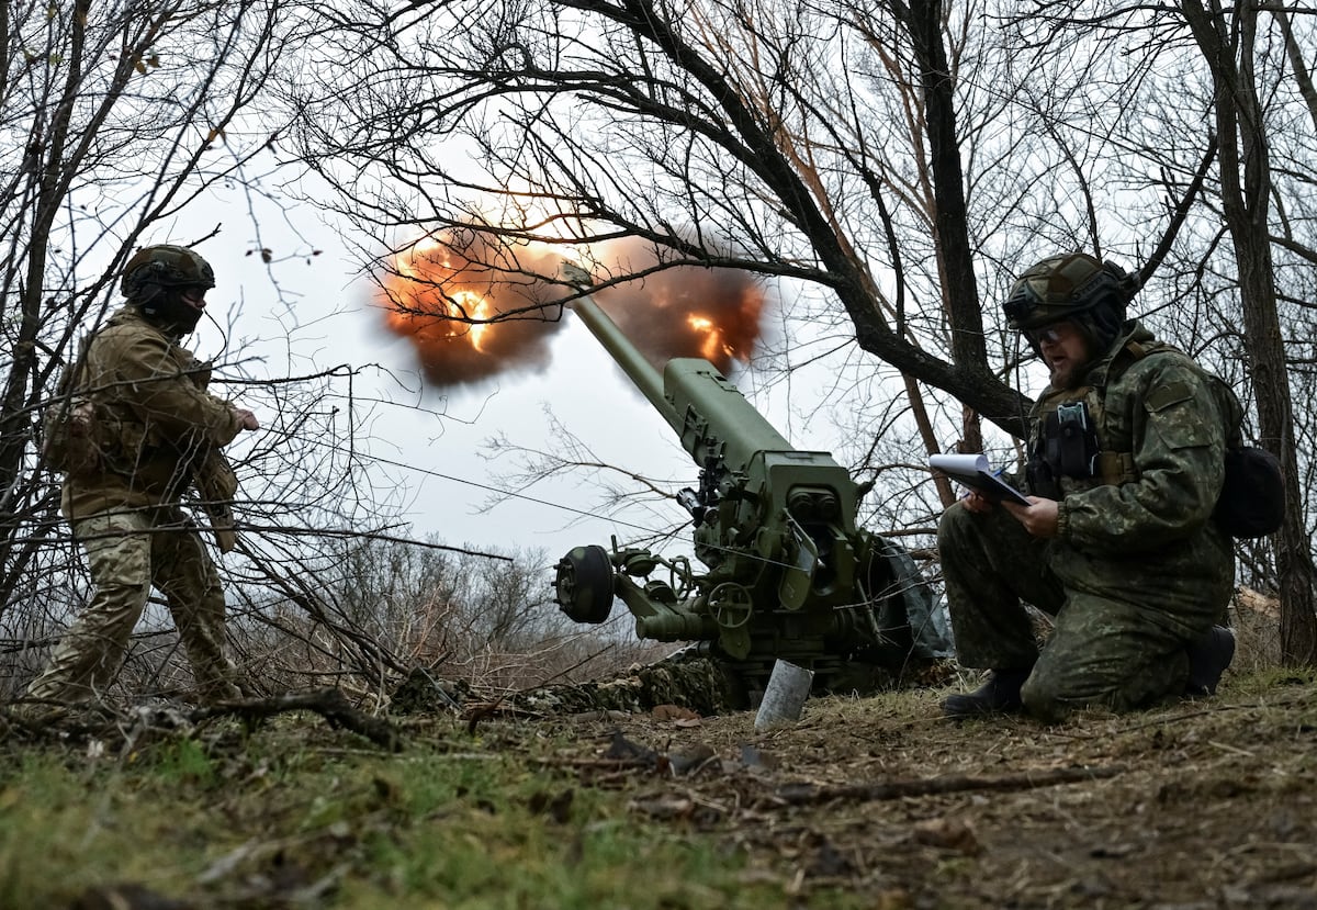
<instances>
[{"instance_id":1,"label":"camouflage combat helmet on the kneeling soldier's head","mask_svg":"<svg viewBox=\"0 0 1317 910\"><path fill-rule=\"evenodd\" d=\"M1073 321L1089 335L1096 350L1104 350L1119 333L1138 284L1137 275L1113 262L1087 253L1063 253L1026 269L1001 308L1006 324L1017 332L1029 335L1054 323Z\"/></svg>"}]
</instances>

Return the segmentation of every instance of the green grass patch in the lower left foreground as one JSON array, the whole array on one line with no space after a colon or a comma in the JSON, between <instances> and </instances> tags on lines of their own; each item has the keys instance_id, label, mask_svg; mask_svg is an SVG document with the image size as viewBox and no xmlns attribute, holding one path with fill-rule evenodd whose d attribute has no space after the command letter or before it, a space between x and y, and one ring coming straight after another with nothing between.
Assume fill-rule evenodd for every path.
<instances>
[{"instance_id":1,"label":"green grass patch in the lower left foreground","mask_svg":"<svg viewBox=\"0 0 1317 910\"><path fill-rule=\"evenodd\" d=\"M726 839L649 823L622 791L458 730L400 756L309 719L95 753L28 749L0 772L0 906L115 888L220 907L782 901Z\"/></svg>"}]
</instances>

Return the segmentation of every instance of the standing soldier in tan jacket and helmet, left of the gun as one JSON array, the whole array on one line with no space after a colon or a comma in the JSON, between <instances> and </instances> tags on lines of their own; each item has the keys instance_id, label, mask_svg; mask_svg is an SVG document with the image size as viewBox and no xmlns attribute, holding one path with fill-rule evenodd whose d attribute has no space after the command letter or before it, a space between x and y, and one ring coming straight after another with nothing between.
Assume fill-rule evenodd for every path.
<instances>
[{"instance_id":1,"label":"standing soldier in tan jacket and helmet, left of the gun","mask_svg":"<svg viewBox=\"0 0 1317 910\"><path fill-rule=\"evenodd\" d=\"M70 374L68 400L79 403L71 419L80 421L71 436L90 457L50 454L65 469L61 511L87 552L96 590L29 687L34 699L79 703L100 695L119 672L153 585L178 626L198 697L240 694L224 656L224 590L179 506L196 485L216 540L232 548L232 528L223 524L236 481L220 448L259 428L250 411L205 391L209 365L179 345L212 287L215 273L191 249L140 249L122 273L128 303L91 337Z\"/></svg>"}]
</instances>

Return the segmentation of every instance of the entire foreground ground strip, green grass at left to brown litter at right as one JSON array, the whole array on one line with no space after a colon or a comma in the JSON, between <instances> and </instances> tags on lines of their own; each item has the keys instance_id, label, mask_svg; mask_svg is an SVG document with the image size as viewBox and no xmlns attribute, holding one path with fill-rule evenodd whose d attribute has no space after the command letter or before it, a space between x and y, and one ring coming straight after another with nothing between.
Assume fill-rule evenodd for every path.
<instances>
[{"instance_id":1,"label":"entire foreground ground strip, green grass at left to brown litter at right","mask_svg":"<svg viewBox=\"0 0 1317 910\"><path fill-rule=\"evenodd\" d=\"M1076 876L1110 878L1113 896L1129 896L1142 894L1148 870L1168 905L1193 894L1166 882L1210 873L1279 906L1263 899L1266 882L1309 874L1291 853L1313 842L1317 816L1314 686L1312 669L1231 669L1216 699L1096 711L1055 728L948 724L944 691L931 689L819 699L798 727L765 735L748 712L695 727L644 714L486 719L474 734L427 718L408 722L400 753L315 715L161 734L134 748L122 737L24 745L11 731L0 747L0 907L1092 906L1067 890ZM698 774L619 770L598 760L614 732L665 756L712 749L718 763ZM994 780L1064 766L1118 773L1036 791L773 801L789 781ZM982 852L939 840L959 820ZM1134 843L1137 853L1121 852ZM1235 874L1239 864L1247 874Z\"/></svg>"}]
</instances>

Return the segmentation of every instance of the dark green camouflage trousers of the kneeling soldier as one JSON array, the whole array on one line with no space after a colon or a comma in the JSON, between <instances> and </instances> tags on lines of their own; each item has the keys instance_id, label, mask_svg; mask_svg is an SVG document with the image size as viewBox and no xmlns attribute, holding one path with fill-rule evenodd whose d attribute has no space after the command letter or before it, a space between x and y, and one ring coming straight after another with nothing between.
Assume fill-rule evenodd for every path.
<instances>
[{"instance_id":1,"label":"dark green camouflage trousers of the kneeling soldier","mask_svg":"<svg viewBox=\"0 0 1317 910\"><path fill-rule=\"evenodd\" d=\"M1223 615L1233 558L1200 565L1176 560L1089 557L1058 561L1056 541L1033 537L1004 508L976 514L960 503L938 528L951 628L960 664L1033 672L1021 693L1044 720L1100 706L1125 711L1179 695L1188 678L1185 645ZM1083 565L1062 577L1056 565ZM1052 616L1039 649L1023 602Z\"/></svg>"}]
</instances>

